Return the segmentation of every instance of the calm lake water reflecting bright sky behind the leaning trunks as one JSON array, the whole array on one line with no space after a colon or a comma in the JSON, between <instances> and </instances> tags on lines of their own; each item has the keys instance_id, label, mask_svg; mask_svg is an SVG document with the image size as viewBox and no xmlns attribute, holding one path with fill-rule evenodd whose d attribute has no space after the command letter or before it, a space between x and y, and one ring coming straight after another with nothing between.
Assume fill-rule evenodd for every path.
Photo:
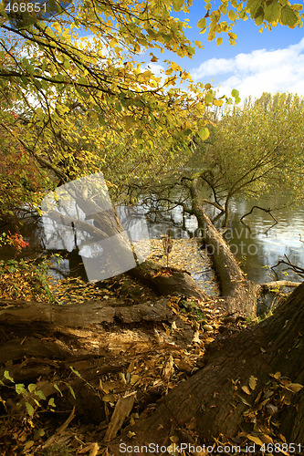
<instances>
[{"instance_id":1,"label":"calm lake water reflecting bright sky behind the leaning trunks","mask_svg":"<svg viewBox=\"0 0 304 456\"><path fill-rule=\"evenodd\" d=\"M237 260L241 262L248 278L257 283L276 279L267 266L277 264L284 258L284 254L292 263L304 267L304 242L301 242L301 240L304 241L304 207L303 205L283 207L285 203L286 200L280 197L261 198L255 202L237 199L231 203L230 221L225 239L230 244L232 252L236 254ZM274 225L275 221L268 213L257 209L246 216L244 223L241 223L240 218L249 212L253 205L278 208L272 211L278 223ZM209 215L215 216L215 212L209 212ZM217 227L220 227L220 222L215 223ZM195 217L185 216L183 219L180 209L175 208L170 214L158 216L156 222L152 217L150 236L160 237L166 232L169 224L172 227L173 237L186 238L197 234ZM291 272L285 275L285 268L286 266L282 267L282 265L276 268L278 278L287 277L299 282L303 280Z\"/></svg>"}]
</instances>

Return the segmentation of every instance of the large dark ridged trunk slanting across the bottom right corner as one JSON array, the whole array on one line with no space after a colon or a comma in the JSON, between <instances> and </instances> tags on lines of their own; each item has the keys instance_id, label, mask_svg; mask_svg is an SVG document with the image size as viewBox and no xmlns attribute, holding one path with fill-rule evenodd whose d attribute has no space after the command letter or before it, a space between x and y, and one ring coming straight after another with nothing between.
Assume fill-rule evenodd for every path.
<instances>
[{"instance_id":1,"label":"large dark ridged trunk slanting across the bottom right corner","mask_svg":"<svg viewBox=\"0 0 304 456\"><path fill-rule=\"evenodd\" d=\"M173 436L179 442L193 442L195 435L201 443L212 444L213 437L223 434L262 444L276 441L284 432L288 442L303 443L303 329L304 284L274 316L215 345L206 366L171 390L152 416L143 413L110 451L118 454L121 442L132 448L150 442L168 446L175 441ZM132 440L128 430L134 433Z\"/></svg>"}]
</instances>

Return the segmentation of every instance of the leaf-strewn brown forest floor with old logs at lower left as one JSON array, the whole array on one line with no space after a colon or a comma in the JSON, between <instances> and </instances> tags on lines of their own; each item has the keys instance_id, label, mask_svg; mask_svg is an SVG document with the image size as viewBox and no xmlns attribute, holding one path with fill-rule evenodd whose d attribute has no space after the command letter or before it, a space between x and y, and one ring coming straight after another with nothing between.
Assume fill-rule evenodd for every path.
<instances>
[{"instance_id":1,"label":"leaf-strewn brown forest floor with old logs at lower left","mask_svg":"<svg viewBox=\"0 0 304 456\"><path fill-rule=\"evenodd\" d=\"M151 257L166 265L161 243L152 240ZM211 270L195 240L174 240L170 266L199 274ZM19 286L25 299L30 281ZM204 301L160 297L130 277L98 287L63 281L53 291L75 314L88 308L82 326L49 317L52 310L43 310L42 303L41 315L37 303L28 326L7 326L7 315L26 304L4 296L1 456L107 454L107 441L127 426L131 440L131 426L142 413L151 413L170 389L202 368L209 347L246 326L244 319L226 314L214 280L205 285L208 293L211 289L215 297ZM88 324L89 312L100 309L103 321Z\"/></svg>"}]
</instances>

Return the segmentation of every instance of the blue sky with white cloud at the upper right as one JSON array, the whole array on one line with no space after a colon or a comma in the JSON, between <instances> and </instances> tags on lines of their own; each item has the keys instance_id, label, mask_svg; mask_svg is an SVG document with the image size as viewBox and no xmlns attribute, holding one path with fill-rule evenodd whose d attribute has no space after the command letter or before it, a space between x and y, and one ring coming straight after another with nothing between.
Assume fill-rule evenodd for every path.
<instances>
[{"instance_id":1,"label":"blue sky with white cloud at the upper right","mask_svg":"<svg viewBox=\"0 0 304 456\"><path fill-rule=\"evenodd\" d=\"M239 90L242 99L257 98L265 91L304 96L304 27L277 26L271 32L265 29L260 33L251 20L239 21L233 30L237 35L236 46L231 46L228 37L221 34L224 40L218 47L215 41L207 41L207 34L200 35L197 28L205 12L204 1L194 0L190 15L184 16L192 26L186 36L200 40L204 49L197 49L192 59L169 53L159 57L173 59L190 73L194 82L210 82L219 96L230 96L233 88ZM160 70L162 59L152 64L152 69Z\"/></svg>"}]
</instances>

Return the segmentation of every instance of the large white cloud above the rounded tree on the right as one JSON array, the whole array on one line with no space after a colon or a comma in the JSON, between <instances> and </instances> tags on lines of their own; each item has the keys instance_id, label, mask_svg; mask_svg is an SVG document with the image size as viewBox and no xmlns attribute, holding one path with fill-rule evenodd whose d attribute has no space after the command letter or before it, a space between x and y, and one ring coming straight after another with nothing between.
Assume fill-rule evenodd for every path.
<instances>
[{"instance_id":1,"label":"large white cloud above the rounded tree on the right","mask_svg":"<svg viewBox=\"0 0 304 456\"><path fill-rule=\"evenodd\" d=\"M233 58L211 58L190 74L195 82L214 79L219 95L229 95L237 88L243 99L278 91L304 96L304 38L283 49L258 49Z\"/></svg>"}]
</instances>

